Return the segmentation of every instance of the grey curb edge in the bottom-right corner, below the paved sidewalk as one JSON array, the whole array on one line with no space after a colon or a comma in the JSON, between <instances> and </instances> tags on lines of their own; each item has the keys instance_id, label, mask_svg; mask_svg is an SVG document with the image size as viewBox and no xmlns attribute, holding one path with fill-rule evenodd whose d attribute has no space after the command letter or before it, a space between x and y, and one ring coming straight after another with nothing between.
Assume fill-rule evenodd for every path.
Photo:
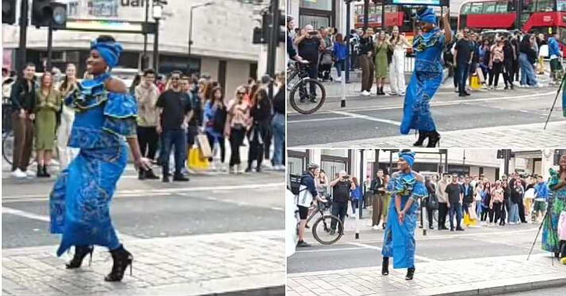
<instances>
[{"instance_id":1,"label":"grey curb edge in the bottom-right corner, below the paved sidewalk","mask_svg":"<svg viewBox=\"0 0 566 296\"><path fill-rule=\"evenodd\" d=\"M441 295L441 296L498 295L505 293L516 293L516 292L537 290L543 288L555 288L559 286L566 286L566 278L558 278L555 280L547 280L547 281L526 282L524 284L507 285L507 286L499 286L492 288L471 289L466 291L440 293L434 295Z\"/></svg>"}]
</instances>

